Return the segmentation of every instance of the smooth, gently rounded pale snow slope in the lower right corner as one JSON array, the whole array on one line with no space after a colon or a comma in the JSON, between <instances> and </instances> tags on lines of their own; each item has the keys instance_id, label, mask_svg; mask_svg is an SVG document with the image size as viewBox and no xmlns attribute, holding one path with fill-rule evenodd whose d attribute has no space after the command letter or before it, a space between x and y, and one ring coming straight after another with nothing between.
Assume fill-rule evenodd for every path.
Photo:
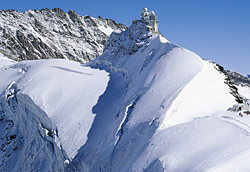
<instances>
[{"instance_id":1,"label":"smooth, gently rounded pale snow slope in the lower right corner","mask_svg":"<svg viewBox=\"0 0 250 172\"><path fill-rule=\"evenodd\" d=\"M249 143L249 131L223 118L197 118L157 131L132 171L143 171L157 159L164 171L248 171L241 158L250 156Z\"/></svg>"}]
</instances>

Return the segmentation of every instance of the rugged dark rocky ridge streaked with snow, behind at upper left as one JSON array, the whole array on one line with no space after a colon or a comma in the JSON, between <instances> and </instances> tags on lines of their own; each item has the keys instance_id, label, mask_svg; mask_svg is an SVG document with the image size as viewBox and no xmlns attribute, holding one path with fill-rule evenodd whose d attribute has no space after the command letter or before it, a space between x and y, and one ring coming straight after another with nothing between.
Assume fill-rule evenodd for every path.
<instances>
[{"instance_id":1,"label":"rugged dark rocky ridge streaked with snow, behind at upper left","mask_svg":"<svg viewBox=\"0 0 250 172\"><path fill-rule=\"evenodd\" d=\"M0 11L0 53L14 60L65 58L79 62L103 51L113 31L126 29L110 19L80 16L74 11Z\"/></svg>"}]
</instances>

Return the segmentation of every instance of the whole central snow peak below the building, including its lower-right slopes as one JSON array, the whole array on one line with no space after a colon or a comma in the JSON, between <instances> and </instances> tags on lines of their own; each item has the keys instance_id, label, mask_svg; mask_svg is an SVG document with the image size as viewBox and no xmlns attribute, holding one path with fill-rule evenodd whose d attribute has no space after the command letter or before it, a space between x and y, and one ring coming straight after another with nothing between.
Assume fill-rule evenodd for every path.
<instances>
[{"instance_id":1,"label":"whole central snow peak below the building, including its lower-right slopes","mask_svg":"<svg viewBox=\"0 0 250 172\"><path fill-rule=\"evenodd\" d=\"M135 21L90 65L111 77L68 171L249 169L236 158L249 149L248 122L227 112L235 97L214 63Z\"/></svg>"}]
</instances>

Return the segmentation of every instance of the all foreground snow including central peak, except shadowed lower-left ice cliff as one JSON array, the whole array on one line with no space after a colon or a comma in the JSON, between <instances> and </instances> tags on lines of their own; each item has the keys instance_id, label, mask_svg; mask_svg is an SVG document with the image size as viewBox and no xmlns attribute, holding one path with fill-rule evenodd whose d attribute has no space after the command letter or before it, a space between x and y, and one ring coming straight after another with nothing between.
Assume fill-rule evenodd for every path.
<instances>
[{"instance_id":1,"label":"all foreground snow including central peak, except shadowed lower-left ice cliff","mask_svg":"<svg viewBox=\"0 0 250 172\"><path fill-rule=\"evenodd\" d=\"M249 93L239 89L244 97ZM57 145L51 156L59 157L58 171L250 170L250 116L228 111L237 102L225 75L139 21L113 32L104 53L84 65L2 63L0 94L6 106L27 96L41 108L26 114L35 116L42 133L30 137Z\"/></svg>"}]
</instances>

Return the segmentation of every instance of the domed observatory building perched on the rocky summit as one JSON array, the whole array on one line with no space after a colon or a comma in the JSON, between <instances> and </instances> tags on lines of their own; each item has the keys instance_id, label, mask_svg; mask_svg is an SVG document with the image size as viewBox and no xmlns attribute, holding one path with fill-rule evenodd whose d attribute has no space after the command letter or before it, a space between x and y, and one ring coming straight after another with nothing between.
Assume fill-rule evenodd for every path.
<instances>
[{"instance_id":1,"label":"domed observatory building perched on the rocky summit","mask_svg":"<svg viewBox=\"0 0 250 172\"><path fill-rule=\"evenodd\" d=\"M154 11L149 12L147 8L143 8L141 11L141 20L146 22L154 32L158 33L158 17Z\"/></svg>"}]
</instances>

